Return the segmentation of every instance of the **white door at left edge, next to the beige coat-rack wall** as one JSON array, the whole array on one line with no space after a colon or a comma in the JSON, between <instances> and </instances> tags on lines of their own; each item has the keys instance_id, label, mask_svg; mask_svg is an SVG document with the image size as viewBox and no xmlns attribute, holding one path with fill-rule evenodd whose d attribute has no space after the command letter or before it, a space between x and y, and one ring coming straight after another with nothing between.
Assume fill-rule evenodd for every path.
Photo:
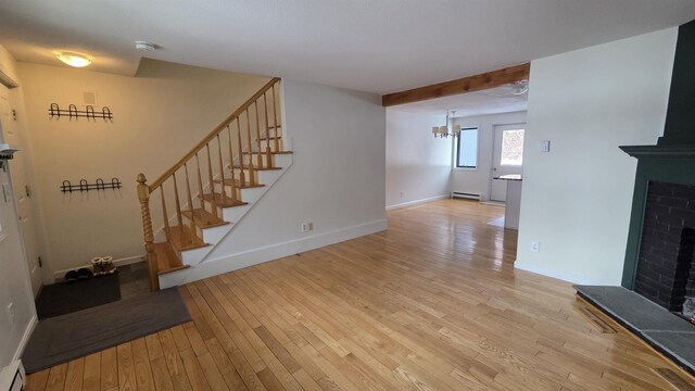
<instances>
[{"instance_id":1,"label":"white door at left edge, next to the beige coat-rack wall","mask_svg":"<svg viewBox=\"0 0 695 391\"><path fill-rule=\"evenodd\" d=\"M12 188L14 189L14 200L16 202L17 217L22 230L22 239L24 241L24 251L29 267L29 277L31 280L31 290L36 297L41 288L41 270L39 266L39 245L37 230L35 227L34 213L31 209L30 188L28 186L28 177L26 169L25 155L22 150L26 150L25 137L20 134L21 127L16 125L12 106L10 104L10 91L7 87L0 85L0 129L4 138L4 142L20 151L14 154L14 159L9 162L12 167ZM8 194L10 197L10 194Z\"/></svg>"}]
</instances>

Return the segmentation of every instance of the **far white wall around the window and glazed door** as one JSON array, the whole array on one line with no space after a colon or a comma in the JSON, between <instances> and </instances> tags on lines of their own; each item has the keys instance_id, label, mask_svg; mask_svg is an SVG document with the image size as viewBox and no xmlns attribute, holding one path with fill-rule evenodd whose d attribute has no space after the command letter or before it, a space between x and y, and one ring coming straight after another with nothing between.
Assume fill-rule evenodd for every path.
<instances>
[{"instance_id":1,"label":"far white wall around the window and glazed door","mask_svg":"<svg viewBox=\"0 0 695 391\"><path fill-rule=\"evenodd\" d=\"M481 195L483 201L490 199L495 125L526 123L526 115L527 113L522 111L460 117L454 121L462 128L478 127L478 167L475 169L454 168L452 173L452 191L477 193Z\"/></svg>"}]
</instances>

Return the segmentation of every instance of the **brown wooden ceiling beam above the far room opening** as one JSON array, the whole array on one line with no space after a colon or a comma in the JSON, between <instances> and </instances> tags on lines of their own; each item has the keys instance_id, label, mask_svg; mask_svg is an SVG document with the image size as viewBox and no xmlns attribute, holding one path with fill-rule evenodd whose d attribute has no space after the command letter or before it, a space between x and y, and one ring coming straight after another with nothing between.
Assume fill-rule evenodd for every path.
<instances>
[{"instance_id":1,"label":"brown wooden ceiling beam above the far room opening","mask_svg":"<svg viewBox=\"0 0 695 391\"><path fill-rule=\"evenodd\" d=\"M381 97L381 105L388 108L396 104L419 102L433 98L480 91L514 81L527 80L529 78L531 64L526 63L456 80L387 93Z\"/></svg>"}]
</instances>

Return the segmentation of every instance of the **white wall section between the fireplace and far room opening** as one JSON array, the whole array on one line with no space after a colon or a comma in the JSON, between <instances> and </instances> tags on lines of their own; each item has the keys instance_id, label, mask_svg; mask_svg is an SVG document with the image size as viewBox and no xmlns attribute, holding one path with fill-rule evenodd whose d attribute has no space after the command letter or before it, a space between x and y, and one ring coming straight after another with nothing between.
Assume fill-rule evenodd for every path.
<instances>
[{"instance_id":1,"label":"white wall section between the fireplace and far room opening","mask_svg":"<svg viewBox=\"0 0 695 391\"><path fill-rule=\"evenodd\" d=\"M664 131L677 28L531 63L516 267L619 285L636 160ZM539 142L551 140L551 152ZM530 251L540 241L541 251Z\"/></svg>"}]
</instances>

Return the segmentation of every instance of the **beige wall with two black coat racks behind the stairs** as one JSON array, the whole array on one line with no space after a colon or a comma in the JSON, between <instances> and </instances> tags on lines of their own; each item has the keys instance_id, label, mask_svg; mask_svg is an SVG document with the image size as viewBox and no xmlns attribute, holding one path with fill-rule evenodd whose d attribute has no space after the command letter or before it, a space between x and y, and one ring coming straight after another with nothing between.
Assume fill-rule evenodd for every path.
<instances>
[{"instance_id":1,"label":"beige wall with two black coat racks behind the stairs","mask_svg":"<svg viewBox=\"0 0 695 391\"><path fill-rule=\"evenodd\" d=\"M144 59L136 77L64 66L18 63L53 270L144 254L136 177L150 181L257 91L267 77L239 75ZM113 122L48 115L52 102L84 105L96 92ZM119 190L62 193L63 180L123 181Z\"/></svg>"}]
</instances>

